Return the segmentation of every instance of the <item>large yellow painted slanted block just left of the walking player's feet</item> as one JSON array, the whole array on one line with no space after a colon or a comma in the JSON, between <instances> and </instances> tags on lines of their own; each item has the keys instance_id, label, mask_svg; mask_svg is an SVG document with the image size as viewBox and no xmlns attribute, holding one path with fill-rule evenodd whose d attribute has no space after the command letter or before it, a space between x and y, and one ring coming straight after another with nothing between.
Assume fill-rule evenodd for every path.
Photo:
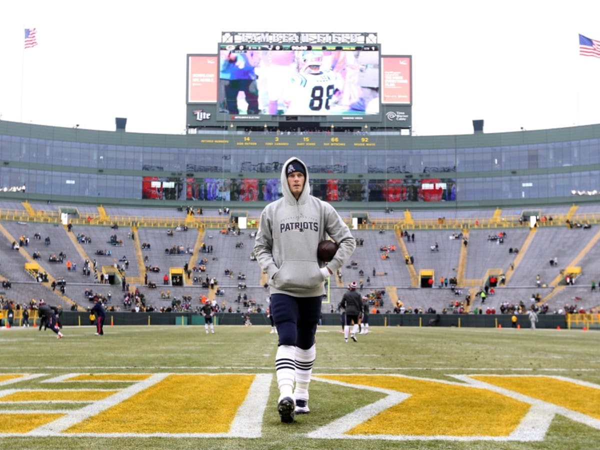
<instances>
[{"instance_id":1,"label":"large yellow painted slanted block just left of the walking player's feet","mask_svg":"<svg viewBox=\"0 0 600 450\"><path fill-rule=\"evenodd\" d=\"M227 433L254 377L169 375L65 433Z\"/></svg>"}]
</instances>

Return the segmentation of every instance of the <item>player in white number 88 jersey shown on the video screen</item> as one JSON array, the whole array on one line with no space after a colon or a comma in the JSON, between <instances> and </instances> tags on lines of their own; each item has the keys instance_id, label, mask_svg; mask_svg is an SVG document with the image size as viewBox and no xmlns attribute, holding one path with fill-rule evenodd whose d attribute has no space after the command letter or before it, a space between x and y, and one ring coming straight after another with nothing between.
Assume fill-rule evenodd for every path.
<instances>
[{"instance_id":1,"label":"player in white number 88 jersey shown on the video screen","mask_svg":"<svg viewBox=\"0 0 600 450\"><path fill-rule=\"evenodd\" d=\"M327 115L337 103L339 95L338 74L322 70L322 52L304 52L298 73L292 77L287 91L286 114L310 116Z\"/></svg>"}]
</instances>

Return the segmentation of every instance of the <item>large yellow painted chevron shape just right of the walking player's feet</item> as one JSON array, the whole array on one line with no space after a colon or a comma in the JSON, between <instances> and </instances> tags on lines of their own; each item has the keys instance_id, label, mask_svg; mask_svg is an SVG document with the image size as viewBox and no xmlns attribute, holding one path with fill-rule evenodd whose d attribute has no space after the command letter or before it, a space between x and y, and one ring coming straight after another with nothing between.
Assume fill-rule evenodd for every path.
<instances>
[{"instance_id":1,"label":"large yellow painted chevron shape just right of the walking player's feet","mask_svg":"<svg viewBox=\"0 0 600 450\"><path fill-rule=\"evenodd\" d=\"M347 434L412 436L508 436L530 405L468 385L400 376L319 376L411 397L347 431Z\"/></svg>"}]
</instances>

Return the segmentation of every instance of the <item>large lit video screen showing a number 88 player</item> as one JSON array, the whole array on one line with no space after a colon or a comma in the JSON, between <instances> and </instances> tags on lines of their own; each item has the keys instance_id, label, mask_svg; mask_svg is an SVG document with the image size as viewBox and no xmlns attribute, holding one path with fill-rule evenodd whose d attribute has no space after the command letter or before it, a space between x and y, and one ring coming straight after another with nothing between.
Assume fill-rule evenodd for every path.
<instances>
[{"instance_id":1,"label":"large lit video screen showing a number 88 player","mask_svg":"<svg viewBox=\"0 0 600 450\"><path fill-rule=\"evenodd\" d=\"M219 46L218 103L239 118L380 114L379 46Z\"/></svg>"}]
</instances>

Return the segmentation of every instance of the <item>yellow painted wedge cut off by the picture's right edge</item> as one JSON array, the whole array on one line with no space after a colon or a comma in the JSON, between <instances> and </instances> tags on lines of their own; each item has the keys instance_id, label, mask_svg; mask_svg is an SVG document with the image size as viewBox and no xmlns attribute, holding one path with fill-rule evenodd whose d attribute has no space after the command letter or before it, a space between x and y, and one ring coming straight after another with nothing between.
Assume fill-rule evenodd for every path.
<instances>
[{"instance_id":1,"label":"yellow painted wedge cut off by the picture's right edge","mask_svg":"<svg viewBox=\"0 0 600 450\"><path fill-rule=\"evenodd\" d=\"M600 419L600 389L551 377L473 376L472 378ZM564 395L557 395L557 392L563 392Z\"/></svg>"}]
</instances>

